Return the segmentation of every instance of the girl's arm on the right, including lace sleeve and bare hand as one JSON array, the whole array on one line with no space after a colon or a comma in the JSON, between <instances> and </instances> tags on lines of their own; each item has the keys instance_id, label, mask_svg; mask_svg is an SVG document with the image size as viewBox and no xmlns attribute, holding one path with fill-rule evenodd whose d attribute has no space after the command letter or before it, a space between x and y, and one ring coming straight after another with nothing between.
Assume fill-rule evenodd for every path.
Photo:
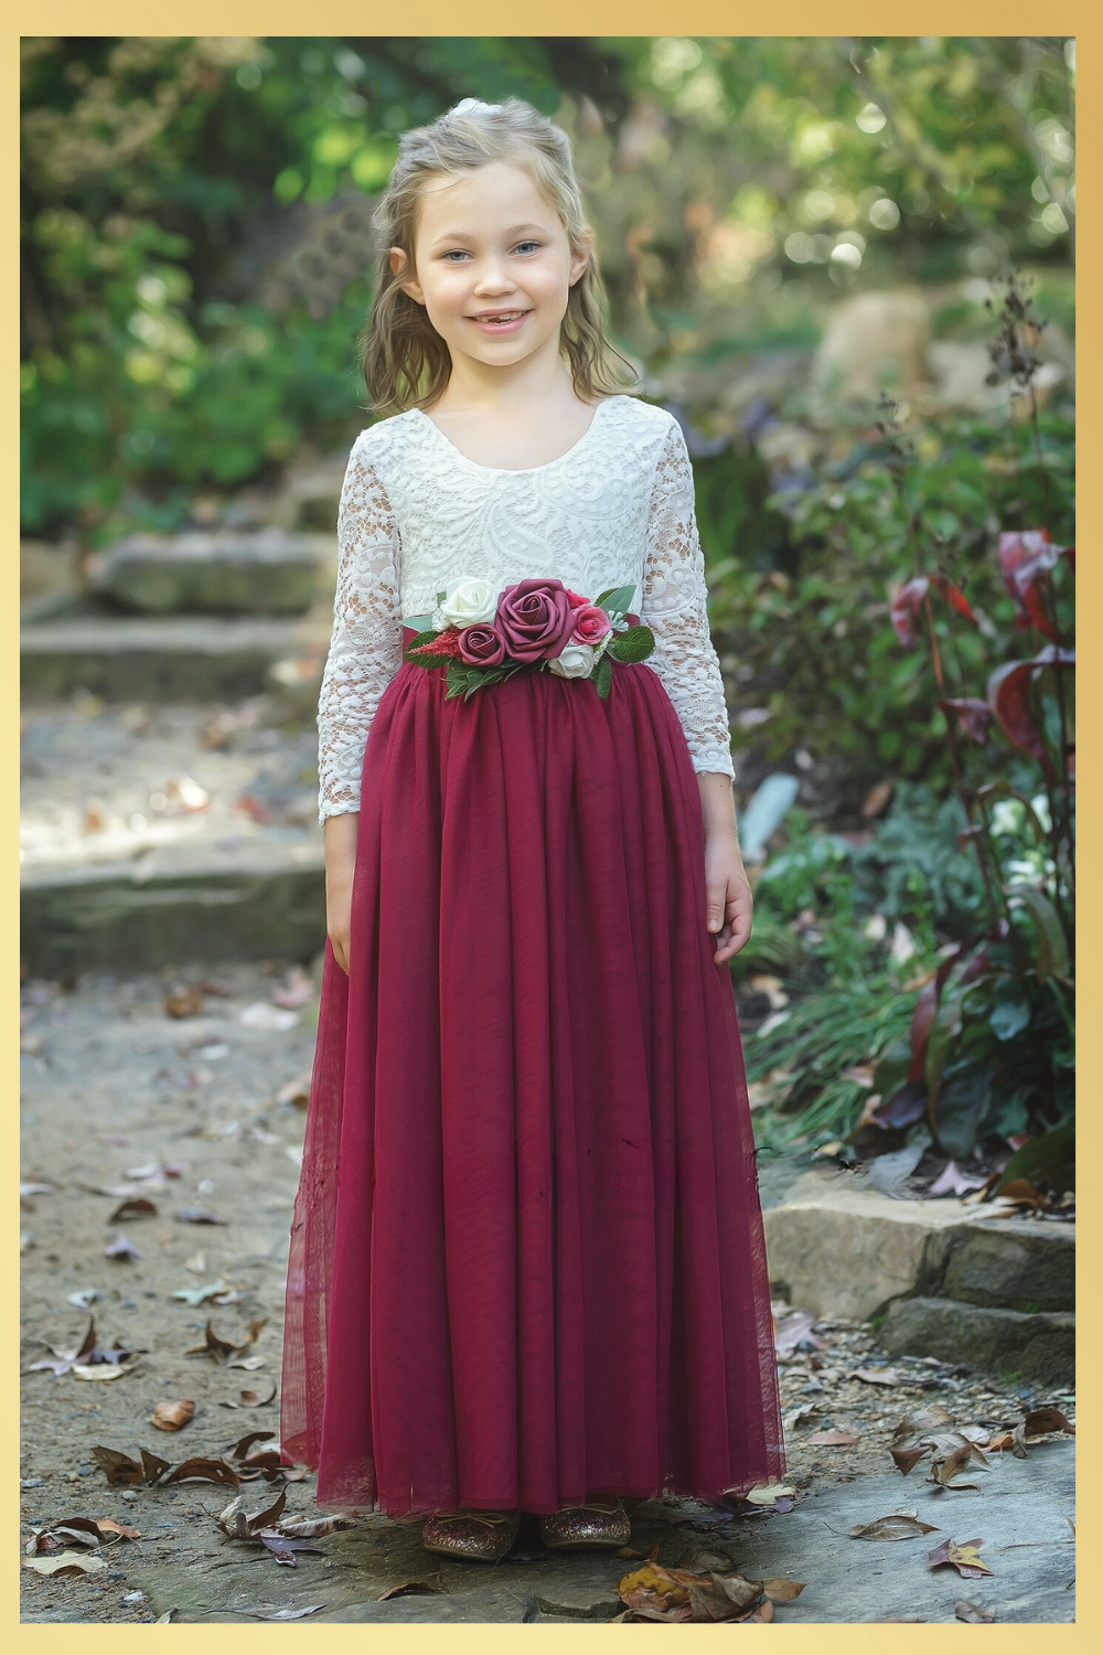
<instances>
[{"instance_id":1,"label":"girl's arm on the right, including lace sleeve and bare hand","mask_svg":"<svg viewBox=\"0 0 1103 1655\"><path fill-rule=\"evenodd\" d=\"M671 420L652 492L640 619L655 634L648 664L673 702L698 773L708 928L716 942L713 960L726 965L751 937L752 899L736 829L724 680L706 604L693 468L681 427Z\"/></svg>"}]
</instances>

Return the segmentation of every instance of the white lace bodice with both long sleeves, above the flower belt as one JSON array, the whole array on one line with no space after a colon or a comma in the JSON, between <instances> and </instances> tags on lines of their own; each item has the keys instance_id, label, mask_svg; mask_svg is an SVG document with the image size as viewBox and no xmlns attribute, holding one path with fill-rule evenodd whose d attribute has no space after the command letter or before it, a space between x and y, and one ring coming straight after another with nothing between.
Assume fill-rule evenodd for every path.
<instances>
[{"instance_id":1,"label":"white lace bodice with both long sleeves, above the flower belt","mask_svg":"<svg viewBox=\"0 0 1103 1655\"><path fill-rule=\"evenodd\" d=\"M367 732L402 665L402 616L428 614L465 574L498 586L557 576L587 597L635 584L633 609L655 632L645 665L673 702L693 768L734 775L693 472L665 409L607 397L567 453L524 470L468 460L422 409L394 414L352 445L337 538L318 707L322 819L359 809Z\"/></svg>"}]
</instances>

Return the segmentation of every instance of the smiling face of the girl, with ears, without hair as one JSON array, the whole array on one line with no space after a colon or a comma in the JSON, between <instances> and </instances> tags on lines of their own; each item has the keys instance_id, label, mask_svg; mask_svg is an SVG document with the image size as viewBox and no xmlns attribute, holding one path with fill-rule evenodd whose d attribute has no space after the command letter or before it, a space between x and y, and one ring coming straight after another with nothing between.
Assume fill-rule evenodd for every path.
<instances>
[{"instance_id":1,"label":"smiling face of the girl, with ears, without hair","mask_svg":"<svg viewBox=\"0 0 1103 1655\"><path fill-rule=\"evenodd\" d=\"M451 361L506 367L549 339L559 349L567 290L585 270L559 213L521 167L489 162L422 192L413 261L402 290L425 306ZM405 265L390 248L390 268Z\"/></svg>"}]
</instances>

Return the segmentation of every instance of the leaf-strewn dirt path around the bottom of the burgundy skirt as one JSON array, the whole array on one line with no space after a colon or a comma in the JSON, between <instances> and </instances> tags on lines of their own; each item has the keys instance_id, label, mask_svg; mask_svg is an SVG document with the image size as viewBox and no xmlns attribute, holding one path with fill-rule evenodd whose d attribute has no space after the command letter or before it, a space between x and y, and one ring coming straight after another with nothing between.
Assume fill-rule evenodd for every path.
<instances>
[{"instance_id":1,"label":"leaf-strewn dirt path around the bottom of the burgundy skirt","mask_svg":"<svg viewBox=\"0 0 1103 1655\"><path fill-rule=\"evenodd\" d=\"M38 1576L25 1567L25 1620L149 1622L174 1610L177 1619L223 1610L233 1619L263 1615L265 1605L286 1609L304 1594L329 1605L319 1619L337 1619L342 1604L362 1610L367 1600L372 1610L387 1587L410 1579L468 1592L473 1569L478 1590L491 1590L480 1566L423 1552L420 1526L375 1516L352 1534L321 1541L324 1556L303 1557L291 1574L218 1531L232 1488L205 1481L109 1486L93 1453L99 1445L136 1456L144 1446L179 1463L218 1456L248 1432L278 1430L286 1240L304 1122L303 1107L288 1096L281 1101L281 1092L294 1092L289 1082L309 1069L316 1016L313 1000L281 1015L273 1006L281 985L278 967L220 968L217 981L192 970L172 978L83 980L68 991L25 985L21 1170L25 1185L48 1188L21 1198L21 1537L78 1516L141 1531L141 1539L98 1552L103 1567L91 1574ZM198 1011L169 1016L165 993L189 986ZM155 1211L112 1220L127 1198L152 1203ZM200 1213L220 1223L195 1221ZM141 1256L106 1256L119 1235ZM174 1296L190 1291L195 1298L195 1289L215 1283L228 1302L190 1304ZM78 1294L86 1307L73 1302ZM73 1370L28 1372L50 1357L48 1347L76 1350L89 1316L101 1349L141 1355L132 1364L84 1365L84 1379ZM246 1347L248 1367L185 1354L203 1342L208 1319L222 1341ZM266 1324L248 1344L250 1326L261 1319ZM782 1362L787 1481L797 1503L891 1473L891 1427L924 1402L943 1402L962 1423L996 1428L1014 1425L1022 1402L1032 1400L906 1359L893 1364L893 1385L855 1379L857 1369L880 1360L868 1331L820 1324L817 1337L822 1346L797 1349ZM124 1372L98 1382L98 1365ZM243 1392L256 1405L241 1405ZM270 1392L271 1400L263 1400ZM157 1430L154 1408L180 1400L195 1403L190 1423L179 1433ZM809 1442L824 1432L857 1442ZM253 1511L270 1503L273 1490L256 1483L243 1494ZM901 1486L903 1496L913 1490ZM701 1533L724 1556L738 1557L741 1539L761 1533L762 1521L784 1523L782 1516L751 1521L688 1503L658 1504L640 1508L633 1544L658 1544L668 1566L693 1556L695 1544L700 1552ZM316 1514L309 1478L288 1486L286 1511ZM600 1559L605 1574L599 1579L592 1559L542 1557L528 1533L514 1561L528 1571L529 1595L536 1592L529 1620L561 1619L557 1609L579 1615L607 1605L605 1576L610 1566L625 1567ZM518 1569L511 1579L521 1579ZM187 1590L197 1581L203 1587L189 1609ZM399 1597L379 1610L433 1619L430 1602ZM518 1619L491 1609L485 1609L488 1619Z\"/></svg>"}]
</instances>

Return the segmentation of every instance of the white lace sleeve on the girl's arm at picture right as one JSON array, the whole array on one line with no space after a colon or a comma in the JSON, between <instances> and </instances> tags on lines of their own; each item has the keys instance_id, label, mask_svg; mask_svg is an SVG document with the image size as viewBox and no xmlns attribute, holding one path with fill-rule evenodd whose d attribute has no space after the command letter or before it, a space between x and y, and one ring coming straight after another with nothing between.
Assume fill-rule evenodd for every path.
<instances>
[{"instance_id":1,"label":"white lace sleeve on the girl's arm at picture right","mask_svg":"<svg viewBox=\"0 0 1103 1655\"><path fill-rule=\"evenodd\" d=\"M704 556L693 505L693 470L673 422L652 492L640 619L655 634L658 672L686 733L693 768L734 776L724 682L708 631Z\"/></svg>"}]
</instances>

